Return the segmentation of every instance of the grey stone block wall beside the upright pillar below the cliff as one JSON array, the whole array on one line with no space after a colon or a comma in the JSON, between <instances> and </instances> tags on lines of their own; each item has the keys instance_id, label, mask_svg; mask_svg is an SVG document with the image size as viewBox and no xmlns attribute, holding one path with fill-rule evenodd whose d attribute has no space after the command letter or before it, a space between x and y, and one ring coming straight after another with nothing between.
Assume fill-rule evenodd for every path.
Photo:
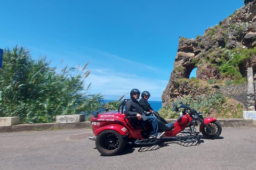
<instances>
[{"instance_id":1,"label":"grey stone block wall beside the upright pillar below the cliff","mask_svg":"<svg viewBox=\"0 0 256 170\"><path fill-rule=\"evenodd\" d=\"M247 83L223 86L220 91L223 95L241 102L247 109Z\"/></svg>"}]
</instances>

